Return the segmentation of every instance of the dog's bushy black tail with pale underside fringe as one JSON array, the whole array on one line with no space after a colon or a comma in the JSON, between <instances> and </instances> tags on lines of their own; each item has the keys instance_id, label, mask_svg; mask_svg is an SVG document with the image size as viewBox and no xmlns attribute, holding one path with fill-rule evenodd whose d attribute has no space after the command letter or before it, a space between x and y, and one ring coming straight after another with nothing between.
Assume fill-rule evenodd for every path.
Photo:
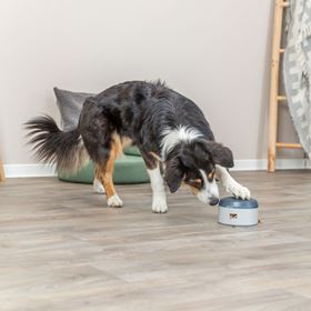
<instances>
[{"instance_id":1,"label":"dog's bushy black tail with pale underside fringe","mask_svg":"<svg viewBox=\"0 0 311 311\"><path fill-rule=\"evenodd\" d=\"M29 130L28 143L33 146L37 158L56 164L57 171L70 174L88 163L89 154L78 129L63 132L49 116L31 119L24 128Z\"/></svg>"}]
</instances>

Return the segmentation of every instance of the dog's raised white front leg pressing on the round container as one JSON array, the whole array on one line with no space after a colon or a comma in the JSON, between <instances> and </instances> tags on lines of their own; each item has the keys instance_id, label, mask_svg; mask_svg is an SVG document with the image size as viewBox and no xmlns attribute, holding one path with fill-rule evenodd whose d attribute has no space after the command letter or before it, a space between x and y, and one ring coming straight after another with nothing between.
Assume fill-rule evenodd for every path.
<instances>
[{"instance_id":1,"label":"dog's raised white front leg pressing on the round container","mask_svg":"<svg viewBox=\"0 0 311 311\"><path fill-rule=\"evenodd\" d=\"M234 197L243 200L251 198L250 190L237 182L225 168L217 164L215 177L219 179L225 191L231 192Z\"/></svg>"}]
</instances>

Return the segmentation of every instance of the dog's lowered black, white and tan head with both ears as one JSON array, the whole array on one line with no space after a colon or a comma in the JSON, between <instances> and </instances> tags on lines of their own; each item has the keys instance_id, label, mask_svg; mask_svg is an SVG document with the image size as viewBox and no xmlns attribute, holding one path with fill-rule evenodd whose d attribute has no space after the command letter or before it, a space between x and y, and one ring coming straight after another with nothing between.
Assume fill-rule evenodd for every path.
<instances>
[{"instance_id":1,"label":"dog's lowered black, white and tan head with both ears","mask_svg":"<svg viewBox=\"0 0 311 311\"><path fill-rule=\"evenodd\" d=\"M177 146L165 161L165 181L170 191L175 192L181 183L185 183L200 201L217 204L215 164L233 167L229 148L203 139Z\"/></svg>"}]
</instances>

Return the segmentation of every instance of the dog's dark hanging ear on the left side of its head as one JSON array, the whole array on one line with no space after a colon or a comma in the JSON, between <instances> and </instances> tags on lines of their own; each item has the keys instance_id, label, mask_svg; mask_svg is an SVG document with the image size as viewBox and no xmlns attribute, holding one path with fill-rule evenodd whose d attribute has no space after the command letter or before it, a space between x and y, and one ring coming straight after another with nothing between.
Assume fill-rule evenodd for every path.
<instances>
[{"instance_id":1,"label":"dog's dark hanging ear on the left side of its head","mask_svg":"<svg viewBox=\"0 0 311 311\"><path fill-rule=\"evenodd\" d=\"M171 193L175 192L184 178L184 169L179 158L173 158L165 163L164 179Z\"/></svg>"}]
</instances>

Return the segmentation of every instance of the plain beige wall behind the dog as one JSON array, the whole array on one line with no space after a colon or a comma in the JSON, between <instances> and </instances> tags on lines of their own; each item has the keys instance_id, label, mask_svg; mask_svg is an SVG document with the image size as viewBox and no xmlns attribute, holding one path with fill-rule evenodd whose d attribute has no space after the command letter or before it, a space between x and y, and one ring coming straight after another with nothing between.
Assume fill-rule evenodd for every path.
<instances>
[{"instance_id":1,"label":"plain beige wall behind the dog","mask_svg":"<svg viewBox=\"0 0 311 311\"><path fill-rule=\"evenodd\" d=\"M57 117L52 87L99 92L158 78L203 109L235 159L267 158L272 2L2 0L4 163L33 163L21 124L39 113ZM282 119L284 139L294 140Z\"/></svg>"}]
</instances>

